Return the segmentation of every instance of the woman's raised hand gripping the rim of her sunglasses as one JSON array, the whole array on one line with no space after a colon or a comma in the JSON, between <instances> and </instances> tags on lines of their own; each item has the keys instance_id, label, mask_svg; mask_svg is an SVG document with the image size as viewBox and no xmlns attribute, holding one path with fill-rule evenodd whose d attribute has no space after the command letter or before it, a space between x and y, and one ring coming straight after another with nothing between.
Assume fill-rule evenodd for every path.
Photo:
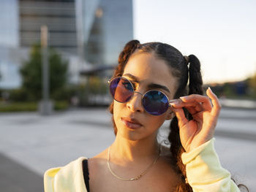
<instances>
[{"instance_id":1,"label":"woman's raised hand gripping the rim of her sunglasses","mask_svg":"<svg viewBox=\"0 0 256 192\"><path fill-rule=\"evenodd\" d=\"M186 152L193 150L214 137L221 105L217 96L211 91L211 88L207 89L206 94L207 96L192 94L170 101L172 110L178 118L181 145ZM188 120L185 117L182 107L189 111L193 117L192 120Z\"/></svg>"}]
</instances>

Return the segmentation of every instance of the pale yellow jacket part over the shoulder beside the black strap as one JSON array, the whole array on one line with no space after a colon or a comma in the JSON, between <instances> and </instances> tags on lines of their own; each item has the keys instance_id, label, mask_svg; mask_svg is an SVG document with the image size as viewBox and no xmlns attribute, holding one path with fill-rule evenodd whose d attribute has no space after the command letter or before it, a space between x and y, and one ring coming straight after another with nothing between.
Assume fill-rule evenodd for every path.
<instances>
[{"instance_id":1,"label":"pale yellow jacket part over the shoulder beside the black strap","mask_svg":"<svg viewBox=\"0 0 256 192\"><path fill-rule=\"evenodd\" d=\"M66 166L48 169L44 174L45 192L86 192L83 159L80 157Z\"/></svg>"}]
</instances>

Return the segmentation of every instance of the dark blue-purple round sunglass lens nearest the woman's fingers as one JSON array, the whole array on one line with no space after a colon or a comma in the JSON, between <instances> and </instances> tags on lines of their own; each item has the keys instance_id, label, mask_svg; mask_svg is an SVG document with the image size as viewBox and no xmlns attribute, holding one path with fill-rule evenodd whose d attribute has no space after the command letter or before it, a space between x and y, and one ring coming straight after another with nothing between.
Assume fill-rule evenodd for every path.
<instances>
[{"instance_id":1,"label":"dark blue-purple round sunglass lens nearest the woman's fingers","mask_svg":"<svg viewBox=\"0 0 256 192\"><path fill-rule=\"evenodd\" d=\"M167 96L161 91L148 91L142 102L145 110L151 115L162 115L169 107Z\"/></svg>"}]
</instances>

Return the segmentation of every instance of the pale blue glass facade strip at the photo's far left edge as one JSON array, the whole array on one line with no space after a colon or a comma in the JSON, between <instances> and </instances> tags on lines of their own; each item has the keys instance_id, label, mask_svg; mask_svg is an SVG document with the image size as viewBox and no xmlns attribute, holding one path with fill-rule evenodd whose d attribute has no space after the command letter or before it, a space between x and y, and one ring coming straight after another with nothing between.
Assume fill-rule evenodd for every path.
<instances>
[{"instance_id":1,"label":"pale blue glass facade strip at the photo's far left edge","mask_svg":"<svg viewBox=\"0 0 256 192\"><path fill-rule=\"evenodd\" d=\"M0 4L0 88L17 88L18 1L1 0Z\"/></svg>"}]
</instances>

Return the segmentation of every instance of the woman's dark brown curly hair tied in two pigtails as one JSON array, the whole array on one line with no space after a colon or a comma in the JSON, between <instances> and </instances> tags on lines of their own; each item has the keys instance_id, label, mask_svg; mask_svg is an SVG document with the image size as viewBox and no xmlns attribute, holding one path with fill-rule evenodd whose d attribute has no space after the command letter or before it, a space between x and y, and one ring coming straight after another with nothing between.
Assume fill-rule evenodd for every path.
<instances>
[{"instance_id":1,"label":"woman's dark brown curly hair tied in two pigtails","mask_svg":"<svg viewBox=\"0 0 256 192\"><path fill-rule=\"evenodd\" d=\"M175 47L161 43L161 42L148 42L140 44L138 40L132 40L124 46L124 50L121 51L118 58L118 66L116 67L113 77L122 76L124 73L124 67L132 54L137 53L152 53L157 58L162 59L170 67L170 73L173 77L176 77L176 93L173 99L177 99L180 96L187 94L200 94L203 95L203 80L200 72L200 61L195 55L189 55L187 58L181 54ZM189 86L187 88L187 84ZM188 90L187 90L188 89ZM113 114L113 101L109 107L110 113ZM184 110L187 118L192 118L187 110ZM117 133L116 124L112 122L115 134ZM181 145L181 140L178 130L178 120L173 118L170 122L170 134L168 136L170 142L170 153L172 154L174 166L176 166L176 172L181 175L181 182L176 187L177 192L192 191L191 186L185 182L186 169L185 165L181 161L181 153L184 153L184 148Z\"/></svg>"}]
</instances>

